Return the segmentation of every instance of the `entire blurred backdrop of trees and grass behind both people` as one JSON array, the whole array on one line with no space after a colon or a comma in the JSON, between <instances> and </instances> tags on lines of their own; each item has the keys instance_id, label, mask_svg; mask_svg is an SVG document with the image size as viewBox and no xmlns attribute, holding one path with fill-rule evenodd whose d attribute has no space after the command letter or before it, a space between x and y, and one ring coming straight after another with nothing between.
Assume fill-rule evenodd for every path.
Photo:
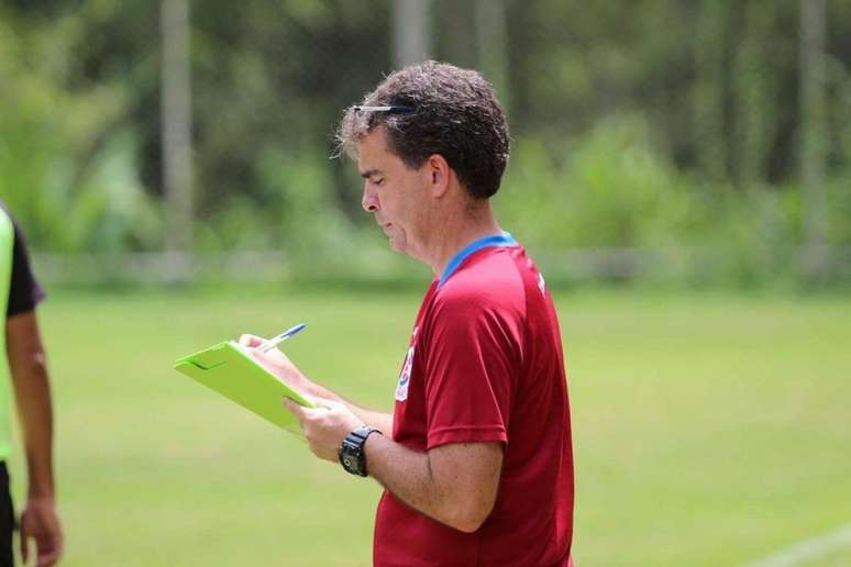
<instances>
[{"instance_id":1,"label":"entire blurred backdrop of trees and grass behind both people","mask_svg":"<svg viewBox=\"0 0 851 567\"><path fill-rule=\"evenodd\" d=\"M297 364L389 410L430 276L333 133L427 57L509 116L495 207L562 318L578 564L851 564L851 3L2 0L67 564L369 564L377 488L170 362L303 320Z\"/></svg>"}]
</instances>

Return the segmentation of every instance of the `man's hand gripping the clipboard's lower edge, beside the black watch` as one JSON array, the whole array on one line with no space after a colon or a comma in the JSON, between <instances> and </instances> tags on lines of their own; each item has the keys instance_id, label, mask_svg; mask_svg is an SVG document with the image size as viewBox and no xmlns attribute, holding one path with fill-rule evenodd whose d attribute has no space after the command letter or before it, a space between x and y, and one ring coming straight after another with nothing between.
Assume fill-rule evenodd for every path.
<instances>
[{"instance_id":1,"label":"man's hand gripping the clipboard's lower edge, beside the black watch","mask_svg":"<svg viewBox=\"0 0 851 567\"><path fill-rule=\"evenodd\" d=\"M310 451L319 458L336 463L343 440L363 425L363 421L340 402L323 399L313 401L319 408L305 408L288 398L284 399L284 405L298 418Z\"/></svg>"}]
</instances>

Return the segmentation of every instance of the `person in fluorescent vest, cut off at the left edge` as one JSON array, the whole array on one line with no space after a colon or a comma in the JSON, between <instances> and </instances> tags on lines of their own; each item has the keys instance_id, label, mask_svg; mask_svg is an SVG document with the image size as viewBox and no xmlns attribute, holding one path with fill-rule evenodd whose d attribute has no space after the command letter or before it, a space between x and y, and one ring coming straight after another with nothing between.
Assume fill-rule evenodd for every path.
<instances>
[{"instance_id":1,"label":"person in fluorescent vest, cut off at the left edge","mask_svg":"<svg viewBox=\"0 0 851 567\"><path fill-rule=\"evenodd\" d=\"M53 479L53 410L35 305L44 292L33 278L23 236L0 201L0 305L5 309L8 368L24 442L29 490L21 514L21 557L27 563L35 540L36 565L55 565L63 549ZM0 371L4 371L0 370ZM14 509L5 460L11 453L9 386L0 380L0 565L14 564Z\"/></svg>"}]
</instances>

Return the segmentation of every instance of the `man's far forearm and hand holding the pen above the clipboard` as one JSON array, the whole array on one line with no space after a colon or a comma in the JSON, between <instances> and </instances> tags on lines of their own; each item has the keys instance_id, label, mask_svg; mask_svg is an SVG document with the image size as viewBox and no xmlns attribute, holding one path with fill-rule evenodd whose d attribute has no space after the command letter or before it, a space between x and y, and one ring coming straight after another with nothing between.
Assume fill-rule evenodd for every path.
<instances>
[{"instance_id":1,"label":"man's far forearm and hand holding the pen above the clipboard","mask_svg":"<svg viewBox=\"0 0 851 567\"><path fill-rule=\"evenodd\" d=\"M273 348L267 353L261 353L256 347L262 345L264 341L264 338L255 335L242 335L240 337L240 344L250 347L252 349L252 355L261 364L269 368L276 376L286 380L287 383L292 386L296 390L312 396L313 398L340 402L349 408L349 411L357 415L362 423L366 423L388 435L393 432L393 413L379 412L357 405L324 386L308 379L301 374L301 370L290 362L287 355L277 348Z\"/></svg>"}]
</instances>

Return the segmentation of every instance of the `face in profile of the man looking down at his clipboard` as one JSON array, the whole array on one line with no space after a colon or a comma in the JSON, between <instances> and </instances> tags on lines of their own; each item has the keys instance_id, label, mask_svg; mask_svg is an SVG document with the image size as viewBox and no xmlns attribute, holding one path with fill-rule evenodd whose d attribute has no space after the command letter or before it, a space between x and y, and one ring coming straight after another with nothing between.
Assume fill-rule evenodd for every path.
<instances>
[{"instance_id":1,"label":"face in profile of the man looking down at his clipboard","mask_svg":"<svg viewBox=\"0 0 851 567\"><path fill-rule=\"evenodd\" d=\"M364 210L390 240L390 247L426 259L429 191L422 170L409 169L387 148L384 127L361 140L357 168L364 178Z\"/></svg>"}]
</instances>

